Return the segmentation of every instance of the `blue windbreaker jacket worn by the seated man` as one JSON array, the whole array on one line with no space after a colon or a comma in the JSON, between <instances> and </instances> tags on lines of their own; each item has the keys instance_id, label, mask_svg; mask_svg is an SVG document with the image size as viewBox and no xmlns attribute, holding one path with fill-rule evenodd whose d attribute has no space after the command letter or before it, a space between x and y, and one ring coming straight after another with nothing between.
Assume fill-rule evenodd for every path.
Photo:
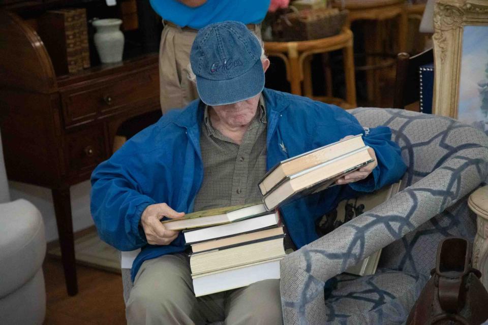
<instances>
[{"instance_id":1,"label":"blue windbreaker jacket worn by the seated man","mask_svg":"<svg viewBox=\"0 0 488 325\"><path fill-rule=\"evenodd\" d=\"M391 141L388 127L365 132L354 116L337 106L270 89L264 89L263 95L267 170L281 160L357 134L363 134L378 160L373 177L367 180L333 186L280 207L298 248L318 238L315 220L338 202L391 184L404 174L400 148ZM142 248L132 267L133 280L145 260L185 250L182 234L167 246L148 245L139 220L144 209L155 203L167 203L176 211L193 211L203 180L202 119L199 100L170 111L132 137L92 174L90 209L99 236L119 250Z\"/></svg>"}]
</instances>

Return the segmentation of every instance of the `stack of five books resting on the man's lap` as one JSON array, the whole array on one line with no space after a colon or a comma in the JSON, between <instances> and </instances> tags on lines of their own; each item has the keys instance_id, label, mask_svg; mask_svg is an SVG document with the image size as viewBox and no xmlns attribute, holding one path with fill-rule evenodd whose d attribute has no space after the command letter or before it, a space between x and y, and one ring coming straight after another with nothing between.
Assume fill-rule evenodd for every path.
<instances>
[{"instance_id":1,"label":"stack of five books resting on the man's lap","mask_svg":"<svg viewBox=\"0 0 488 325\"><path fill-rule=\"evenodd\" d=\"M192 247L196 297L280 278L285 234L278 212L267 211L263 204L210 209L162 222L166 229L184 231Z\"/></svg>"}]
</instances>

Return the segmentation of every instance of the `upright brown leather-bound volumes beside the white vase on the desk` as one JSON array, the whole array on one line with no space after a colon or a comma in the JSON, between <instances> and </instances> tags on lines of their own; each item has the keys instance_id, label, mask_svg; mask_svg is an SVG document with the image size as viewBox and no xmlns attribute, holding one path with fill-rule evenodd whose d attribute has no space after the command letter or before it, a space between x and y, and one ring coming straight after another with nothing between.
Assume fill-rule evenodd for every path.
<instances>
[{"instance_id":1,"label":"upright brown leather-bound volumes beside the white vase on the desk","mask_svg":"<svg viewBox=\"0 0 488 325\"><path fill-rule=\"evenodd\" d=\"M48 10L38 25L57 76L90 67L86 9Z\"/></svg>"}]
</instances>

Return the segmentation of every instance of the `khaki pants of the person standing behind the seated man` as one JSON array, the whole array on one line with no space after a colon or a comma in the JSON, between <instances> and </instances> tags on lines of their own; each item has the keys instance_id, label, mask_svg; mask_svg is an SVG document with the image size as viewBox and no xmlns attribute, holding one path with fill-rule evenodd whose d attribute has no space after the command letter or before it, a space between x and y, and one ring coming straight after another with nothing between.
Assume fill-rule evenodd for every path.
<instances>
[{"instance_id":1,"label":"khaki pants of the person standing behind the seated man","mask_svg":"<svg viewBox=\"0 0 488 325\"><path fill-rule=\"evenodd\" d=\"M261 39L261 25L252 30ZM184 108L198 98L195 84L188 79L190 50L197 30L166 25L159 47L159 87L163 113Z\"/></svg>"}]
</instances>

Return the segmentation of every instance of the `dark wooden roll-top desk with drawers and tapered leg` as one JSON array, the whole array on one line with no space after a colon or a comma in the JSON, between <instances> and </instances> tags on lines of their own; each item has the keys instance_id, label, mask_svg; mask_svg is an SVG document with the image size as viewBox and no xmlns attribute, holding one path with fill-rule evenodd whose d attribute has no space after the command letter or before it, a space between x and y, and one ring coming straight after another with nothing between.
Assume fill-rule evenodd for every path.
<instances>
[{"instance_id":1,"label":"dark wooden roll-top desk with drawers and tapered leg","mask_svg":"<svg viewBox=\"0 0 488 325\"><path fill-rule=\"evenodd\" d=\"M118 126L160 110L158 54L57 78L37 33L0 10L0 127L8 178L51 188L69 295L78 291L70 185L111 155Z\"/></svg>"}]
</instances>

